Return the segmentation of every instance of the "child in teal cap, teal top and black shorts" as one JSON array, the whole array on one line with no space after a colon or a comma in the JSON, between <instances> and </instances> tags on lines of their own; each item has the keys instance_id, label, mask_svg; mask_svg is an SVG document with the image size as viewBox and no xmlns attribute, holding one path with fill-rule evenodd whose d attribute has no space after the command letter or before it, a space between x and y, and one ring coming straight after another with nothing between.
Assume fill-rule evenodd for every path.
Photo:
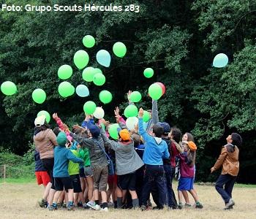
<instances>
[{"instance_id":1,"label":"child in teal cap, teal top and black shorts","mask_svg":"<svg viewBox=\"0 0 256 219\"><path fill-rule=\"evenodd\" d=\"M57 137L58 146L54 148L54 166L53 166L53 177L54 185L56 188L56 193L54 194L53 204L48 207L49 210L57 209L57 201L63 189L68 192L68 203L67 210L73 209L73 186L71 177L68 173L68 163L69 160L83 164L83 160L77 158L73 153L66 148L67 145L67 136L61 131Z\"/></svg>"}]
</instances>

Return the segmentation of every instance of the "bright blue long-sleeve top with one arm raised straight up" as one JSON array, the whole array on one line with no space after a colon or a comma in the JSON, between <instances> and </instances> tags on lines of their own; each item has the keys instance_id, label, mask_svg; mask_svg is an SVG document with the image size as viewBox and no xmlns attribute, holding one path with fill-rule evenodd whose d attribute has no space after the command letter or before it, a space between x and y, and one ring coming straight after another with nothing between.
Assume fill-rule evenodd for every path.
<instances>
[{"instance_id":1,"label":"bright blue long-sleeve top with one arm raised straight up","mask_svg":"<svg viewBox=\"0 0 256 219\"><path fill-rule=\"evenodd\" d=\"M162 159L170 157L166 142L146 133L143 128L143 118L139 118L139 134L145 142L143 162L149 165L162 165Z\"/></svg>"}]
</instances>

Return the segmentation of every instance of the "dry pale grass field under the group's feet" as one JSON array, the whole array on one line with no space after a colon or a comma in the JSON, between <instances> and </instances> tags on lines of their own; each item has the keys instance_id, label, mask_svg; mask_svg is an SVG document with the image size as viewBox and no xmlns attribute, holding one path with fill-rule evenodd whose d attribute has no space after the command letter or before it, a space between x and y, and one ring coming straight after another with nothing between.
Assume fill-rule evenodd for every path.
<instances>
[{"instance_id":1,"label":"dry pale grass field under the group's feet","mask_svg":"<svg viewBox=\"0 0 256 219\"><path fill-rule=\"evenodd\" d=\"M10 180L12 181L12 180ZM30 183L28 183L30 182ZM176 188L176 185L174 185ZM235 185L233 199L236 206L232 211L222 210L221 197L211 185L196 185L203 210L113 210L95 212L93 210L75 209L74 212L56 210L49 212L37 206L42 194L42 187L31 183L31 180L20 180L15 183L0 183L0 218L256 218L255 185ZM192 202L192 198L190 198Z\"/></svg>"}]
</instances>

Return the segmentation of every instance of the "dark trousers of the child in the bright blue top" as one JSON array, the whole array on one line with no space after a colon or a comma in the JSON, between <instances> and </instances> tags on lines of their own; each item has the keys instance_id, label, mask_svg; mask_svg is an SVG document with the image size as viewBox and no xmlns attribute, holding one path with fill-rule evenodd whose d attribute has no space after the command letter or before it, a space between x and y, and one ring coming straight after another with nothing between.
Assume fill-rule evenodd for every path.
<instances>
[{"instance_id":1,"label":"dark trousers of the child in the bright blue top","mask_svg":"<svg viewBox=\"0 0 256 219\"><path fill-rule=\"evenodd\" d=\"M151 186L156 183L159 193L159 207L164 207L167 204L167 189L165 180L165 171L162 165L147 165L144 176L142 204L146 205L148 196L151 191Z\"/></svg>"}]
</instances>

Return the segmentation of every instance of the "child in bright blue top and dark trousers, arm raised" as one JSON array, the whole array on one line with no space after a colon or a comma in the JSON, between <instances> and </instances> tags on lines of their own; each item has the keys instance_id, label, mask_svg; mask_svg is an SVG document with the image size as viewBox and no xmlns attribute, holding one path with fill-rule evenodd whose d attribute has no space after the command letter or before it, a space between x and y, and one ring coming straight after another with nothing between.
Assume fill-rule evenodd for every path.
<instances>
[{"instance_id":1,"label":"child in bright blue top and dark trousers, arm raised","mask_svg":"<svg viewBox=\"0 0 256 219\"><path fill-rule=\"evenodd\" d=\"M142 192L141 210L146 210L146 204L151 190L151 185L157 182L157 190L159 193L159 208L163 208L167 204L167 189L165 182L165 171L162 163L163 158L169 158L170 153L167 144L162 140L164 130L161 126L153 126L153 136L146 133L143 128L143 109L139 111L139 133L145 142L145 150L143 154L143 162L146 164L146 172L144 177L144 185Z\"/></svg>"}]
</instances>

